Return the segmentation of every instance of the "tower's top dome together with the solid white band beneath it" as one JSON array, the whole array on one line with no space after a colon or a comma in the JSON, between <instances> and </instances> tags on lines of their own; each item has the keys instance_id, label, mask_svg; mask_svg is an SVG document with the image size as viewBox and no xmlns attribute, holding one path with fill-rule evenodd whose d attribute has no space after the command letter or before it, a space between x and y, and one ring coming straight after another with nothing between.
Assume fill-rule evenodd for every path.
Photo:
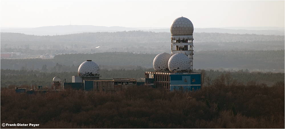
<instances>
[{"instance_id":1,"label":"tower's top dome together with the solid white band beneath it","mask_svg":"<svg viewBox=\"0 0 285 129\"><path fill-rule=\"evenodd\" d=\"M194 27L186 17L176 18L170 27L172 40L193 40Z\"/></svg>"}]
</instances>

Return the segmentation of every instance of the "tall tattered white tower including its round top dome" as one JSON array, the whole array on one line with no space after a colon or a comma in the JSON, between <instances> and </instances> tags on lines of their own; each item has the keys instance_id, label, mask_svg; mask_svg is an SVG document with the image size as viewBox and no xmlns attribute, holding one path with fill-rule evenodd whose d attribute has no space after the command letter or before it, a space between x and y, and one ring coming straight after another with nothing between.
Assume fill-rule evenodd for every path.
<instances>
[{"instance_id":1,"label":"tall tattered white tower including its round top dome","mask_svg":"<svg viewBox=\"0 0 285 129\"><path fill-rule=\"evenodd\" d=\"M193 24L186 17L176 18L170 27L171 56L176 53L187 55L191 65L189 72L193 72L193 31Z\"/></svg>"}]
</instances>

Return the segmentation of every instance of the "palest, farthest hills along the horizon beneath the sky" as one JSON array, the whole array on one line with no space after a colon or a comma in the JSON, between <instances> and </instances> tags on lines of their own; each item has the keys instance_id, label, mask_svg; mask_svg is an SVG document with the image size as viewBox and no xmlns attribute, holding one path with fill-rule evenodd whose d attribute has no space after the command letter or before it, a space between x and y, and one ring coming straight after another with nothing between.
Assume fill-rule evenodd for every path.
<instances>
[{"instance_id":1,"label":"palest, farthest hills along the horizon beneath the sky","mask_svg":"<svg viewBox=\"0 0 285 129\"><path fill-rule=\"evenodd\" d=\"M58 25L37 28L1 28L1 32L24 33L27 35L66 35L83 32L118 32L118 31L152 31L152 32L170 32L169 28L128 28L128 27L104 27L93 25ZM258 34L258 35L284 35L282 27L228 27L228 28L194 28L195 33L230 33L230 34Z\"/></svg>"}]
</instances>

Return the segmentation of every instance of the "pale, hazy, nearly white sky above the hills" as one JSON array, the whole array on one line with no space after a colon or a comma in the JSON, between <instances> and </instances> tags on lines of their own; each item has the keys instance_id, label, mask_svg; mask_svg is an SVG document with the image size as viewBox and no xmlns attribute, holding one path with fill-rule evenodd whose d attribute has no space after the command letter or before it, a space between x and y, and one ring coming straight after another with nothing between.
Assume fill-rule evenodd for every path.
<instances>
[{"instance_id":1,"label":"pale, hazy, nearly white sky above the hills","mask_svg":"<svg viewBox=\"0 0 285 129\"><path fill-rule=\"evenodd\" d=\"M284 27L284 1L0 1L1 27Z\"/></svg>"}]
</instances>

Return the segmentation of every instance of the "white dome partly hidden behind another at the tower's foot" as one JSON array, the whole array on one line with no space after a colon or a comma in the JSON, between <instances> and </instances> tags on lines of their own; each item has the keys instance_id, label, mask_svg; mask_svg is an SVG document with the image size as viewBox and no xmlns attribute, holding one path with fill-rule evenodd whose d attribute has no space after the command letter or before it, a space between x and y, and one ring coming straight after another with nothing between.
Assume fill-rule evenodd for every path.
<instances>
[{"instance_id":1,"label":"white dome partly hidden behind another at the tower's foot","mask_svg":"<svg viewBox=\"0 0 285 129\"><path fill-rule=\"evenodd\" d=\"M169 53L160 53L153 59L153 68L156 72L167 72L168 60L171 57Z\"/></svg>"}]
</instances>

